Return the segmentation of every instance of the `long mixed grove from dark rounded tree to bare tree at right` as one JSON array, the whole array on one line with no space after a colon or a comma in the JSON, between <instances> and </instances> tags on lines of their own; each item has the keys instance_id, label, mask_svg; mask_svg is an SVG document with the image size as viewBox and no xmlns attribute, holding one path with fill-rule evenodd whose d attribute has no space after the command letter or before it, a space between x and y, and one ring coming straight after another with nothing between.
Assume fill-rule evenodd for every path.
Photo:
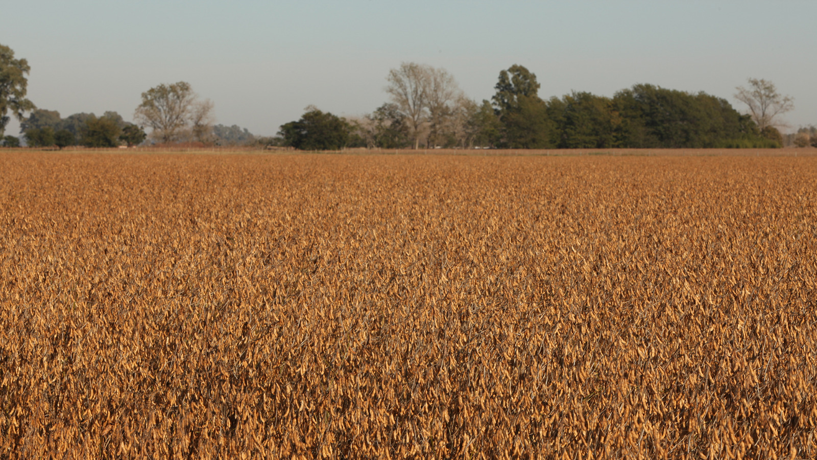
<instances>
[{"instance_id":1,"label":"long mixed grove from dark rounded tree to bare tree at right","mask_svg":"<svg viewBox=\"0 0 817 460\"><path fill-rule=\"evenodd\" d=\"M344 119L315 106L283 124L278 142L305 150L381 148L707 148L781 147L777 115L792 109L772 83L749 79L725 99L639 83L613 97L571 92L542 100L536 75L511 65L491 100L467 98L446 70L404 63L386 77L390 101Z\"/></svg>"}]
</instances>

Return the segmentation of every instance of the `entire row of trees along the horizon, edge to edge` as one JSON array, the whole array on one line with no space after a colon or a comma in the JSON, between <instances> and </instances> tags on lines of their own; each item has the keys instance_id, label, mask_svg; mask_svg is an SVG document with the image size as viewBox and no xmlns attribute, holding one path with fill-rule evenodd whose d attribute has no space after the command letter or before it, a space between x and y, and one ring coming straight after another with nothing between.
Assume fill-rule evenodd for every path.
<instances>
[{"instance_id":1,"label":"entire row of trees along the horizon, edge to edge","mask_svg":"<svg viewBox=\"0 0 817 460\"><path fill-rule=\"evenodd\" d=\"M212 101L190 83L159 84L141 95L134 121L116 112L78 113L62 119L37 109L26 97L29 65L0 45L0 137L10 117L20 120L29 146L114 147L150 142L263 143L302 150L368 148L706 148L781 147L811 142L811 134L784 138L776 118L792 110L792 98L773 83L748 79L734 97L742 115L721 97L638 83L613 97L570 92L544 100L536 74L523 65L499 72L490 100L467 97L447 70L404 62L386 75L388 101L359 117L339 117L308 106L274 138L257 138L236 125L214 125ZM24 113L28 112L26 118ZM150 129L150 134L145 133ZM804 140L806 139L806 140ZM797 142L795 142L797 141ZM19 145L13 136L6 146Z\"/></svg>"}]
</instances>

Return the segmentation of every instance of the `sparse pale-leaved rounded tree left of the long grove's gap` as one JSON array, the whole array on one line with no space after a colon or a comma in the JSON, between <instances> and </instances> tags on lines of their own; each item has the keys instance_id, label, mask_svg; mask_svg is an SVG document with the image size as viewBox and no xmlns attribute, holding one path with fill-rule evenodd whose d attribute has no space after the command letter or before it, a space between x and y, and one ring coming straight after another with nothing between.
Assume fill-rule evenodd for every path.
<instances>
[{"instance_id":1,"label":"sparse pale-leaved rounded tree left of the long grove's gap","mask_svg":"<svg viewBox=\"0 0 817 460\"><path fill-rule=\"evenodd\" d=\"M159 142L174 142L192 125L194 137L210 123L212 102L197 100L190 83L160 84L142 93L142 102L133 114L136 123L150 126ZM199 131L195 131L199 129Z\"/></svg>"}]
</instances>

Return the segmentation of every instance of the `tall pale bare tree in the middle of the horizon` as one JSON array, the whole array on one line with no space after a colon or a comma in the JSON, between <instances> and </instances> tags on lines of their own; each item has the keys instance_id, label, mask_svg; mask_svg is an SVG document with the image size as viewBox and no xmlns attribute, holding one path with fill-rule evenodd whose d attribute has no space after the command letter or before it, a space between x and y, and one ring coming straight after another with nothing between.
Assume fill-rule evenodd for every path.
<instances>
[{"instance_id":1,"label":"tall pale bare tree in the middle of the horizon","mask_svg":"<svg viewBox=\"0 0 817 460\"><path fill-rule=\"evenodd\" d=\"M431 66L404 62L397 69L389 71L386 92L408 118L414 138L414 149L420 147L420 134L428 112L429 74Z\"/></svg>"}]
</instances>

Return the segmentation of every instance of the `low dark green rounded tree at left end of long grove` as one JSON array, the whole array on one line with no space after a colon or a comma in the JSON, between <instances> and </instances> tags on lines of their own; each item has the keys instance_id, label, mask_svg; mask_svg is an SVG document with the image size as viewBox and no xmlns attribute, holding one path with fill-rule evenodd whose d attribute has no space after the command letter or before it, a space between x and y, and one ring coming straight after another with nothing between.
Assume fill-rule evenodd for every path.
<instances>
[{"instance_id":1,"label":"low dark green rounded tree at left end of long grove","mask_svg":"<svg viewBox=\"0 0 817 460\"><path fill-rule=\"evenodd\" d=\"M301 120L281 125L279 136L285 145L300 150L340 150L346 147L350 130L346 120L308 106Z\"/></svg>"}]
</instances>

